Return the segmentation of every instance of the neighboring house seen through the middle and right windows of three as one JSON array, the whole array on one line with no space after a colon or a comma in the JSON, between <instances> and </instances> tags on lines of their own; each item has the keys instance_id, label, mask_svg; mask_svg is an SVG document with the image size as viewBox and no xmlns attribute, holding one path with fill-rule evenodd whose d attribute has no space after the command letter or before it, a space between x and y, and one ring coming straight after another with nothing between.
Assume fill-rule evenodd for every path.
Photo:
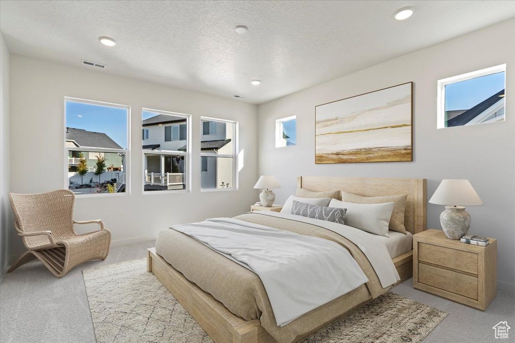
<instances>
[{"instance_id":1,"label":"neighboring house seen through the middle and right windows of three","mask_svg":"<svg viewBox=\"0 0 515 343\"><path fill-rule=\"evenodd\" d=\"M183 189L184 158L160 155L161 150L186 151L186 119L172 115L156 115L142 122L143 150L145 154L145 190ZM226 132L226 123L202 120L201 152L231 155L229 145L232 132ZM148 151L155 151L150 154ZM202 158L202 188L216 188L221 182L232 184L232 160L215 157Z\"/></svg>"}]
</instances>

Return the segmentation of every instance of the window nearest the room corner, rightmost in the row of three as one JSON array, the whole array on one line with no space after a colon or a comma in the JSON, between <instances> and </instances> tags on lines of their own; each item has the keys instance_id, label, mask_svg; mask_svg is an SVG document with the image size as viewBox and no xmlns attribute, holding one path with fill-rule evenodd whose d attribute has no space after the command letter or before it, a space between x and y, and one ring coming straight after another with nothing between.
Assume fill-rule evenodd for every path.
<instances>
[{"instance_id":1,"label":"window nearest the room corner, rightmost in the row of three","mask_svg":"<svg viewBox=\"0 0 515 343\"><path fill-rule=\"evenodd\" d=\"M201 118L201 189L236 189L236 137L238 123Z\"/></svg>"}]
</instances>

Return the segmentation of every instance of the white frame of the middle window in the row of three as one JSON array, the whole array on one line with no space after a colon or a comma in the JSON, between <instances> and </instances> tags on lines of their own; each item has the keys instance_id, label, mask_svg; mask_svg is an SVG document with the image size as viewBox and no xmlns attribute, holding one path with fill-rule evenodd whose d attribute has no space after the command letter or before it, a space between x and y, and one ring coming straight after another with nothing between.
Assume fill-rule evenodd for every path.
<instances>
[{"instance_id":1,"label":"white frame of the middle window in the row of three","mask_svg":"<svg viewBox=\"0 0 515 343\"><path fill-rule=\"evenodd\" d=\"M191 193L192 191L192 166L191 166L191 136L192 136L192 115L191 114L185 114L185 113L179 113L179 112L170 112L170 111L162 111L162 110L155 110L150 109L148 107L143 107L141 110L142 114L143 112L150 112L150 113L156 113L156 114L164 114L164 115L171 115L171 116L177 116L177 117L184 117L186 118L186 151L178 151L178 150L143 150L142 149L142 163L141 163L141 170L142 170L142 185L141 185L141 191L143 192L143 195L159 195L159 194L180 194L180 193ZM177 125L177 124L170 124L170 125L163 125L164 128L167 126L170 127L170 139L173 134L171 133L171 126ZM166 130L166 129L164 129ZM179 128L179 136L180 136L180 128ZM163 138L164 139L164 138ZM172 141L172 140L170 140ZM145 155L165 155L165 156L184 156L184 183L186 187L184 189L166 189L166 190L159 190L159 191L145 191Z\"/></svg>"}]
</instances>

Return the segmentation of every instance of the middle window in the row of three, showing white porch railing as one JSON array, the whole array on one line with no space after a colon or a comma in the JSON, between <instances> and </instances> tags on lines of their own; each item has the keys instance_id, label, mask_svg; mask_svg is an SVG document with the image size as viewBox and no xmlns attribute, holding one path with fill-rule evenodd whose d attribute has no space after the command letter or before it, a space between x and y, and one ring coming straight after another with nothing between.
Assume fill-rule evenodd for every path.
<instances>
[{"instance_id":1,"label":"middle window in the row of three, showing white porch railing","mask_svg":"<svg viewBox=\"0 0 515 343\"><path fill-rule=\"evenodd\" d=\"M190 115L143 110L142 125L150 132L143 143L143 189L190 190Z\"/></svg>"}]
</instances>

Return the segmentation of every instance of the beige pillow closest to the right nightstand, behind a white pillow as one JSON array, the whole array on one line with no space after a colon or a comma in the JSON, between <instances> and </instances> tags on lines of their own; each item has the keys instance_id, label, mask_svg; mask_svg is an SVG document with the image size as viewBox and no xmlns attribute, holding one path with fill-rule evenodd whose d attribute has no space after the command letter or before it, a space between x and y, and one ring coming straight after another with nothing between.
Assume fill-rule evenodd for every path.
<instances>
[{"instance_id":1,"label":"beige pillow closest to the right nightstand, behind a white pillow","mask_svg":"<svg viewBox=\"0 0 515 343\"><path fill-rule=\"evenodd\" d=\"M388 228L392 231L406 233L404 227L404 210L408 195L362 196L354 193L341 192L341 200L355 204L384 204L394 203Z\"/></svg>"}]
</instances>

